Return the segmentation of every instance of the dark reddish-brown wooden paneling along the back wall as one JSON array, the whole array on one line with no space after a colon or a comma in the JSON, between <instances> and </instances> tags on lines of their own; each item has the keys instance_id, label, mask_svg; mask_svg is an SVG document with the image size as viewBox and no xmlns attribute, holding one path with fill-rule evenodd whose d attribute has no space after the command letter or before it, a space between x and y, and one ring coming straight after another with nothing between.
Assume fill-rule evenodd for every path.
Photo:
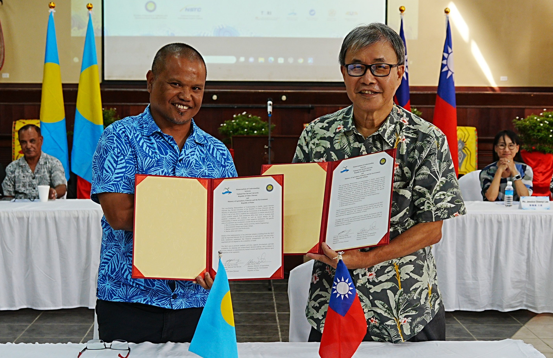
<instances>
[{"instance_id":1,"label":"dark reddish-brown wooden paneling along the back wall","mask_svg":"<svg viewBox=\"0 0 553 358\"><path fill-rule=\"evenodd\" d=\"M68 131L72 131L76 90L76 85L64 85ZM512 120L517 116L541 113L544 108L551 110L553 103L553 88L457 87L456 90L458 123L478 130L479 167L489 164L491 140L497 131L512 129ZM0 84L0 139L7 138L0 141L1 158L5 157L1 153L11 153L13 120L38 118L40 91L40 84ZM144 83L103 83L101 91L103 106L117 108L121 118L142 113L149 102ZM434 113L435 91L432 87L411 88L412 106L421 110L422 118L429 122L432 122ZM212 99L213 94L217 94L217 100ZM281 99L283 94L286 101ZM340 84L208 83L204 104L195 119L207 133L221 139L218 127L234 113L246 110L267 120L265 103L268 97L274 102L274 134L296 138L304 123L351 104ZM0 161L5 160L1 158Z\"/></svg>"}]
</instances>

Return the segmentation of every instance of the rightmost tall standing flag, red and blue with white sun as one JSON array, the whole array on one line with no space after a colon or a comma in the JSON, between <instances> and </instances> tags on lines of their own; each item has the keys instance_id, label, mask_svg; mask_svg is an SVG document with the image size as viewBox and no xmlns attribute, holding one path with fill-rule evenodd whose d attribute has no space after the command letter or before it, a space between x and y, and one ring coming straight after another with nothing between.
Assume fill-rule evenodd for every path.
<instances>
[{"instance_id":1,"label":"rightmost tall standing flag, red and blue with white sun","mask_svg":"<svg viewBox=\"0 0 553 358\"><path fill-rule=\"evenodd\" d=\"M457 173L459 170L459 157L457 155L457 104L455 102L455 82L453 81L455 71L453 71L453 45L451 42L449 15L446 15L446 24L446 42L444 44L444 53L442 54L438 95L436 96L436 107L434 107L434 120L432 123L446 135L453 166Z\"/></svg>"}]
</instances>

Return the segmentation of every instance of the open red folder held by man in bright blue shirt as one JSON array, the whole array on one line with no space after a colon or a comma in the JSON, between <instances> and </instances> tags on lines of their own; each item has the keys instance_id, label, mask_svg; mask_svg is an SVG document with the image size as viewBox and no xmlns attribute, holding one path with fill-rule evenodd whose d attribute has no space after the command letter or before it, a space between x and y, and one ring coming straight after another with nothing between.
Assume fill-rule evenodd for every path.
<instances>
[{"instance_id":1,"label":"open red folder held by man in bright blue shirt","mask_svg":"<svg viewBox=\"0 0 553 358\"><path fill-rule=\"evenodd\" d=\"M133 278L284 278L283 175L135 176Z\"/></svg>"}]
</instances>

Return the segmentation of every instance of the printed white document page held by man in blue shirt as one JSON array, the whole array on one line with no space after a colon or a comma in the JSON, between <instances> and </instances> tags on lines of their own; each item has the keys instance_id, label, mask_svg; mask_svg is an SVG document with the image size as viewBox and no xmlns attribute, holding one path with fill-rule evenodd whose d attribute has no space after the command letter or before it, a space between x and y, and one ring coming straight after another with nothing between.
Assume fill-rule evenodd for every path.
<instances>
[{"instance_id":1,"label":"printed white document page held by man in blue shirt","mask_svg":"<svg viewBox=\"0 0 553 358\"><path fill-rule=\"evenodd\" d=\"M283 187L273 177L223 180L213 191L212 267L229 279L267 278L283 264Z\"/></svg>"}]
</instances>

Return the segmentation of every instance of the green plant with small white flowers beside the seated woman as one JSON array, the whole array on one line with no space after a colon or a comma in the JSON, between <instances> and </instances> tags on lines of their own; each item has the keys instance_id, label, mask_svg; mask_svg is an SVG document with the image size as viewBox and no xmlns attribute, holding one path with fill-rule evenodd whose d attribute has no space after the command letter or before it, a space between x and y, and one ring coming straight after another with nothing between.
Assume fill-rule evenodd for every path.
<instances>
[{"instance_id":1,"label":"green plant with small white flowers beside the seated woman","mask_svg":"<svg viewBox=\"0 0 553 358\"><path fill-rule=\"evenodd\" d=\"M515 118L522 149L532 152L553 153L553 112L530 114L526 118Z\"/></svg>"}]
</instances>

